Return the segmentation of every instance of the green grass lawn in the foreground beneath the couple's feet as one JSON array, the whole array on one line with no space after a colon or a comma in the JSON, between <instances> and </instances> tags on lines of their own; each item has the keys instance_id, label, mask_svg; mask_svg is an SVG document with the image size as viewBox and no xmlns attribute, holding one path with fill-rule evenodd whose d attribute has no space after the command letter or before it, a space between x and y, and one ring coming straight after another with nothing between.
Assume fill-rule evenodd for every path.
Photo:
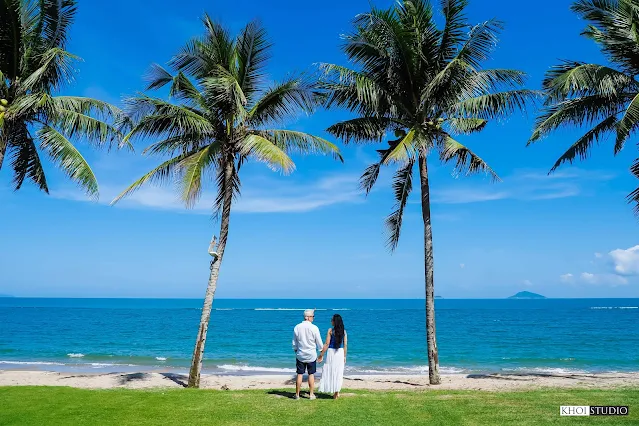
<instances>
[{"instance_id":1,"label":"green grass lawn in the foreground beneath the couple's feet","mask_svg":"<svg viewBox=\"0 0 639 426\"><path fill-rule=\"evenodd\" d=\"M517 392L345 391L337 400L290 390L83 390L0 387L2 425L639 424L639 389ZM560 417L560 405L628 405L624 417Z\"/></svg>"}]
</instances>

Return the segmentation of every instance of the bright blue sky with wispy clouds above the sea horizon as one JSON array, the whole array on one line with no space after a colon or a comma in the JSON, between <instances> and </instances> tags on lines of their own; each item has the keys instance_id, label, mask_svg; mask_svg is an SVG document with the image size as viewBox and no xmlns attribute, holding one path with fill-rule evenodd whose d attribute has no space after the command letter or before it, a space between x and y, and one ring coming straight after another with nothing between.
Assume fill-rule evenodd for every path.
<instances>
[{"instance_id":1,"label":"bright blue sky with wispy clouds above the sea horizon","mask_svg":"<svg viewBox=\"0 0 639 426\"><path fill-rule=\"evenodd\" d=\"M271 76L318 62L344 63L339 35L369 2L79 2L69 50L81 56L69 93L113 103L143 87L153 62L164 63L201 32L206 11L233 31L260 19L274 43ZM378 6L390 2L376 1ZM506 23L488 64L529 73L538 88L558 59L604 62L579 36L584 23L566 0L471 0L471 22ZM292 124L325 135L345 112L319 112ZM534 111L492 123L462 141L502 183L454 178L431 163L436 293L447 298L506 297L528 290L550 297L639 297L637 220L625 196L637 185L628 166L634 141L617 157L611 143L587 162L546 172L579 132L562 131L525 147ZM86 200L48 167L51 195L13 193L0 173L0 293L38 297L202 297L206 253L218 230L212 194L185 211L170 187L149 187L117 207L108 202L157 158L82 147L100 182ZM384 246L383 219L393 205L390 172L368 198L357 178L374 146L344 148L345 164L295 158L281 176L260 164L243 169L243 195L231 218L218 297L423 297L423 237L417 191L398 250ZM637 247L635 247L637 246Z\"/></svg>"}]
</instances>

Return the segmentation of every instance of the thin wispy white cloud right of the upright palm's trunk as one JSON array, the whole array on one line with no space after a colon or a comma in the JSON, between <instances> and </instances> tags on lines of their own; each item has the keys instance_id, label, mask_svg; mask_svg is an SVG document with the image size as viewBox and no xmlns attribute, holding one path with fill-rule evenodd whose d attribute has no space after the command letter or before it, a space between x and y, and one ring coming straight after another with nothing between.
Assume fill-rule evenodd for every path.
<instances>
[{"instance_id":1,"label":"thin wispy white cloud right of the upright palm's trunk","mask_svg":"<svg viewBox=\"0 0 639 426\"><path fill-rule=\"evenodd\" d=\"M575 197L613 179L606 172L589 172L577 168L548 175L546 171L519 171L500 183L461 182L444 189L435 188L433 203L466 204L504 199L533 201Z\"/></svg>"}]
</instances>

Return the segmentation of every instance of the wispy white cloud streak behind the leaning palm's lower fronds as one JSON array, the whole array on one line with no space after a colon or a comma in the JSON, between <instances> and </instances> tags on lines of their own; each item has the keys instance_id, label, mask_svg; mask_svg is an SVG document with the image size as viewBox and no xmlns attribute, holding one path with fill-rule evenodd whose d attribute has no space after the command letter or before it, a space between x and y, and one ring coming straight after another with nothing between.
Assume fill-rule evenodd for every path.
<instances>
[{"instance_id":1,"label":"wispy white cloud streak behind the leaning palm's lower fronds","mask_svg":"<svg viewBox=\"0 0 639 426\"><path fill-rule=\"evenodd\" d=\"M246 182L242 195L233 206L237 213L300 213L334 204L362 201L358 190L358 176L331 175L308 183L296 183L284 179L262 179ZM100 203L108 204L124 188L103 185L100 188ZM63 190L52 194L56 198L90 201L79 191ZM204 192L200 201L191 210L185 210L179 197L171 187L145 186L120 201L117 206L152 208L160 210L189 211L211 214L215 201L213 192Z\"/></svg>"}]
</instances>

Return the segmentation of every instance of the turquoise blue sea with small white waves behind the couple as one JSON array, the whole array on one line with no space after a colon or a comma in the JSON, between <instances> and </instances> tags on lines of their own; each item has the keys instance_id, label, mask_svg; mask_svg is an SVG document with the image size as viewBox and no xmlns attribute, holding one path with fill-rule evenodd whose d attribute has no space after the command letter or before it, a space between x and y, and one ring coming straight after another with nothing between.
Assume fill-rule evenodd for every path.
<instances>
[{"instance_id":1,"label":"turquoise blue sea with small white waves behind the couple","mask_svg":"<svg viewBox=\"0 0 639 426\"><path fill-rule=\"evenodd\" d=\"M439 299L442 372L639 371L639 299ZM200 300L0 298L0 368L183 371ZM292 372L304 308L339 313L349 372L426 372L423 300L216 300L204 369Z\"/></svg>"}]
</instances>

